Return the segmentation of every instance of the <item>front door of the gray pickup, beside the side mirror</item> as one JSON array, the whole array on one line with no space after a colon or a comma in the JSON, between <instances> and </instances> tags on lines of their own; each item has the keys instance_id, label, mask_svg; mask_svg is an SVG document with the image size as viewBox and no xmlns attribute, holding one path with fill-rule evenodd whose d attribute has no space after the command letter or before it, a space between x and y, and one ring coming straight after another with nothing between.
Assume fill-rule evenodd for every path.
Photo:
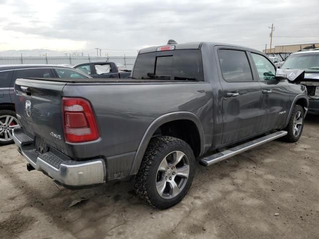
<instances>
[{"instance_id":1,"label":"front door of the gray pickup, beside the side mirror","mask_svg":"<svg viewBox=\"0 0 319 239\"><path fill-rule=\"evenodd\" d=\"M267 114L261 124L261 131L283 125L289 114L291 100L287 80L276 80L276 66L257 52L251 52L253 67L262 88L262 109Z\"/></svg>"}]
</instances>

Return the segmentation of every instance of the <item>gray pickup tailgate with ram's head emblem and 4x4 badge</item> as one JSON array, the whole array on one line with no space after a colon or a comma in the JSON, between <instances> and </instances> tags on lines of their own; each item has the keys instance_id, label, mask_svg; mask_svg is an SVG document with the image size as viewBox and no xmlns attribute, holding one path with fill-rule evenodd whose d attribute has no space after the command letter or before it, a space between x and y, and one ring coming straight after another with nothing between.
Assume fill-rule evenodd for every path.
<instances>
[{"instance_id":1,"label":"gray pickup tailgate with ram's head emblem and 4x4 badge","mask_svg":"<svg viewBox=\"0 0 319 239\"><path fill-rule=\"evenodd\" d=\"M35 140L40 152L48 145L67 151L62 125L62 90L65 82L17 79L15 110L21 127Z\"/></svg>"}]
</instances>

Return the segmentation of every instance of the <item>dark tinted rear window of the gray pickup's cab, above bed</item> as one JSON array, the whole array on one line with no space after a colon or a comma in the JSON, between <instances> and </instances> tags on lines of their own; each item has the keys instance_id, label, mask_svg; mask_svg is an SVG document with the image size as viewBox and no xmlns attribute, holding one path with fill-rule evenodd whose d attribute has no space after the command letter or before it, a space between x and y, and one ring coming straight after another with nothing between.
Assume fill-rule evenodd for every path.
<instances>
[{"instance_id":1,"label":"dark tinted rear window of the gray pickup's cab, above bed","mask_svg":"<svg viewBox=\"0 0 319 239\"><path fill-rule=\"evenodd\" d=\"M201 52L170 50L138 55L134 79L204 81Z\"/></svg>"}]
</instances>

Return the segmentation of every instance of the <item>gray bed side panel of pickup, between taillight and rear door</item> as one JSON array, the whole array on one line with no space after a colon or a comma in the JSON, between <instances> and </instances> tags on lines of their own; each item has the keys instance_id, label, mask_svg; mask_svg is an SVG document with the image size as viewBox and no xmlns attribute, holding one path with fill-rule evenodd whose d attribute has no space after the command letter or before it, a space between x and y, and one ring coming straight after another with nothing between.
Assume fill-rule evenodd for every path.
<instances>
[{"instance_id":1,"label":"gray bed side panel of pickup, between taillight and rear door","mask_svg":"<svg viewBox=\"0 0 319 239\"><path fill-rule=\"evenodd\" d=\"M101 91L103 87L105 91ZM127 170L128 161L133 163L135 152L150 124L160 116L173 112L196 115L206 132L205 141L211 140L213 99L208 82L109 83L107 87L102 83L72 84L65 86L63 97L82 97L91 102L101 136L100 140L92 143L92 147L68 144L73 149L68 150L72 152L69 156L74 158L84 159L92 155L103 155L107 161L117 158L116 162L122 163L123 170ZM117 157L123 154L124 158ZM121 176L126 176L124 173Z\"/></svg>"}]
</instances>

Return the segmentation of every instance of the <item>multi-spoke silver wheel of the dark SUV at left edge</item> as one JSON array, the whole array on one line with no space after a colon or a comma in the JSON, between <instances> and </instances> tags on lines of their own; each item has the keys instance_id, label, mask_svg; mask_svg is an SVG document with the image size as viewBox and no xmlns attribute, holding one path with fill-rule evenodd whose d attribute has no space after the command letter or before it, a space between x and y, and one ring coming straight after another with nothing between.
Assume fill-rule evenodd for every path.
<instances>
[{"instance_id":1,"label":"multi-spoke silver wheel of the dark SUV at left edge","mask_svg":"<svg viewBox=\"0 0 319 239\"><path fill-rule=\"evenodd\" d=\"M12 131L18 126L18 120L14 111L0 111L0 145L13 142Z\"/></svg>"}]
</instances>

